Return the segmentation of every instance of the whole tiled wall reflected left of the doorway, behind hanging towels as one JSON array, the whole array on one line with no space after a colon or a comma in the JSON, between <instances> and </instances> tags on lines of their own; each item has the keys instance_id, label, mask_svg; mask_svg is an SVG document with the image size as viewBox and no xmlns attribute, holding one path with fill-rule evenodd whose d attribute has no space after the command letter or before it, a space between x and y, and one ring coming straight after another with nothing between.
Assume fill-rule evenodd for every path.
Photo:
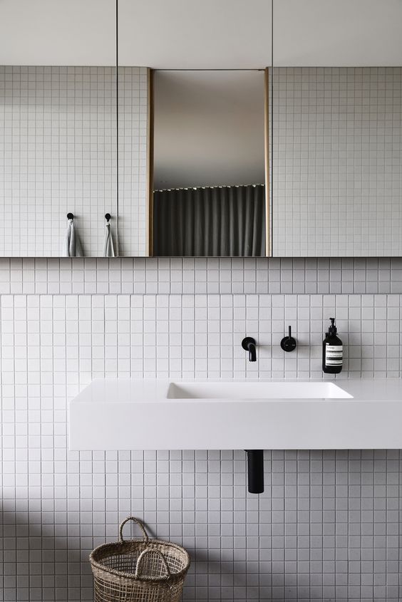
<instances>
[{"instance_id":1,"label":"whole tiled wall reflected left of the doorway, behind hanging towels","mask_svg":"<svg viewBox=\"0 0 402 602\"><path fill-rule=\"evenodd\" d=\"M147 69L118 76L116 99L112 67L0 66L0 256L61 256L68 212L84 256L103 255L105 213L119 254L145 255Z\"/></svg>"}]
</instances>

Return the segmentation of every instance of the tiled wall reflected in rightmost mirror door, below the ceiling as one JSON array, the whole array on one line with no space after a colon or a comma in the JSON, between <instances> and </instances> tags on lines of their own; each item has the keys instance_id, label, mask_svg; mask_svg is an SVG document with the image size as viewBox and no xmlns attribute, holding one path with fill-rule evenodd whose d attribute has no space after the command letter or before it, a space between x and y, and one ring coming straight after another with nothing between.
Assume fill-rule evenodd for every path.
<instances>
[{"instance_id":1,"label":"tiled wall reflected in rightmost mirror door, below the ceiling","mask_svg":"<svg viewBox=\"0 0 402 602\"><path fill-rule=\"evenodd\" d=\"M402 254L402 68L275 68L274 256Z\"/></svg>"}]
</instances>

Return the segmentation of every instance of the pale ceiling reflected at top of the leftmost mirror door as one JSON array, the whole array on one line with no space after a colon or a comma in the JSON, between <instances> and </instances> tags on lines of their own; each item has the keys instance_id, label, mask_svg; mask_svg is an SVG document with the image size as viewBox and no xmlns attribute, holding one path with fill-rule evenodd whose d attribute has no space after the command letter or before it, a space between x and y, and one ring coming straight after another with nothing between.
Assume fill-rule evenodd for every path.
<instances>
[{"instance_id":1,"label":"pale ceiling reflected at top of the leftmost mirror door","mask_svg":"<svg viewBox=\"0 0 402 602\"><path fill-rule=\"evenodd\" d=\"M115 66L115 1L1 0L0 65Z\"/></svg>"}]
</instances>

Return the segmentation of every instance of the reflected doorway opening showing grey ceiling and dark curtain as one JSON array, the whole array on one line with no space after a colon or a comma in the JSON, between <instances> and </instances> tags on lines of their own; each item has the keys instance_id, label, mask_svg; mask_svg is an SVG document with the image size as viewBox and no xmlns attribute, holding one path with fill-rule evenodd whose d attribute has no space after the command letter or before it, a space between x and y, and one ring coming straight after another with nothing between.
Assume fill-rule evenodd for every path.
<instances>
[{"instance_id":1,"label":"reflected doorway opening showing grey ceiling and dark curtain","mask_svg":"<svg viewBox=\"0 0 402 602\"><path fill-rule=\"evenodd\" d=\"M264 256L264 71L155 71L153 254Z\"/></svg>"}]
</instances>

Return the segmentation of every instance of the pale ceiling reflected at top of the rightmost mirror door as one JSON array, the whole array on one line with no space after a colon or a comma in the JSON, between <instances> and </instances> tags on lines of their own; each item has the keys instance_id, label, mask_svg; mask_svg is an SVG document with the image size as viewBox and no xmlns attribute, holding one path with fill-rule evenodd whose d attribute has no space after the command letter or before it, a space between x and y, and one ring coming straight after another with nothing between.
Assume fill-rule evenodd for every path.
<instances>
[{"instance_id":1,"label":"pale ceiling reflected at top of the rightmost mirror door","mask_svg":"<svg viewBox=\"0 0 402 602\"><path fill-rule=\"evenodd\" d=\"M401 65L401 0L274 0L274 66Z\"/></svg>"}]
</instances>

